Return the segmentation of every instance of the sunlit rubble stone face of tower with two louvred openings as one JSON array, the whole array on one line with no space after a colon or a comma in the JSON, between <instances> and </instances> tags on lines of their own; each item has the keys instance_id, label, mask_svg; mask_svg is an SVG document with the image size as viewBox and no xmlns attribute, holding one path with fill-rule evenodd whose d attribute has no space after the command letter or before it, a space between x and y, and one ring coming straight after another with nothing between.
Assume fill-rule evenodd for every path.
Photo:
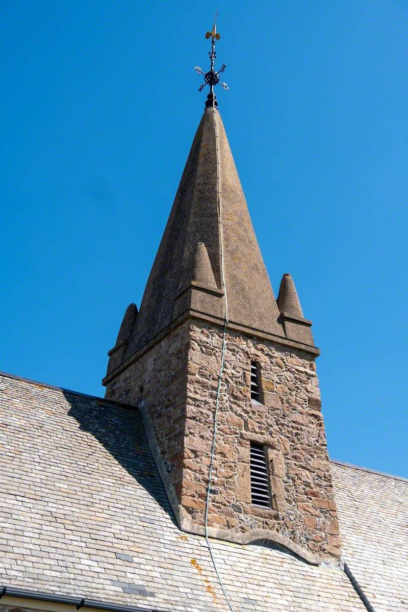
<instances>
[{"instance_id":1,"label":"sunlit rubble stone face of tower with two louvred openings","mask_svg":"<svg viewBox=\"0 0 408 612\"><path fill-rule=\"evenodd\" d=\"M191 326L182 503L197 525L204 516L221 342L221 329ZM262 404L251 401L251 360L260 364ZM251 505L251 441L267 448L272 509ZM339 556L313 357L228 333L213 475L209 509L213 528L243 534L276 531L313 554Z\"/></svg>"}]
</instances>

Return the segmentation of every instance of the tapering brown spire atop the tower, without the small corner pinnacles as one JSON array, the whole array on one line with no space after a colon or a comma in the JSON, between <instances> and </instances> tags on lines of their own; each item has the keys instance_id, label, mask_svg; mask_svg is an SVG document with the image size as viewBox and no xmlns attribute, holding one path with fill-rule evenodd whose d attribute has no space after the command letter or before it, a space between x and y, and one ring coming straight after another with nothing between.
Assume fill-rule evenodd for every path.
<instances>
[{"instance_id":1,"label":"tapering brown spire atop the tower, without the small corner pinnacles","mask_svg":"<svg viewBox=\"0 0 408 612\"><path fill-rule=\"evenodd\" d=\"M127 356L191 310L193 302L193 310L222 318L221 231L231 323L284 337L223 122L218 110L206 108L147 280ZM206 245L215 280L212 293L190 287L200 242ZM202 247L199 257L204 258Z\"/></svg>"}]
</instances>

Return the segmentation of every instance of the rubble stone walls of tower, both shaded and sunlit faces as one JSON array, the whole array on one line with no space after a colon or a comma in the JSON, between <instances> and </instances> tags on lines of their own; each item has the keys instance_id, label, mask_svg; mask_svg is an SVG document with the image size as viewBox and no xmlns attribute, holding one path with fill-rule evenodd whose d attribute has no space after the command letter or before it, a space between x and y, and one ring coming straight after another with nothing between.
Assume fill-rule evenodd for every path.
<instances>
[{"instance_id":1,"label":"rubble stone walls of tower, both shaded and sunlit faces","mask_svg":"<svg viewBox=\"0 0 408 612\"><path fill-rule=\"evenodd\" d=\"M222 330L186 321L108 384L106 398L146 405L159 469L180 527L203 533ZM262 404L250 397L259 362ZM141 390L143 387L143 390ZM272 509L251 504L250 442L267 449ZM156 453L157 458L157 453ZM171 488L170 487L170 488ZM213 537L275 540L307 556L340 554L313 357L228 332L209 507Z\"/></svg>"}]
</instances>

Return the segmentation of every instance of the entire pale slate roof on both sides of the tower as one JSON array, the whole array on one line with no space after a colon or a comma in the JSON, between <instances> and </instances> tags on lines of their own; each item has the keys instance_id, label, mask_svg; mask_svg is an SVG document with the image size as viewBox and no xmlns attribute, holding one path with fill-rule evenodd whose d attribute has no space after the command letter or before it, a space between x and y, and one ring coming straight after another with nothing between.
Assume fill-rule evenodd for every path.
<instances>
[{"instance_id":1,"label":"entire pale slate roof on both sides of the tower","mask_svg":"<svg viewBox=\"0 0 408 612\"><path fill-rule=\"evenodd\" d=\"M2 375L0 444L1 585L228 610L206 541L177 528L138 409ZM347 564L376 612L408 610L408 481L332 469ZM260 545L213 551L234 610L365 610L339 567Z\"/></svg>"}]
</instances>

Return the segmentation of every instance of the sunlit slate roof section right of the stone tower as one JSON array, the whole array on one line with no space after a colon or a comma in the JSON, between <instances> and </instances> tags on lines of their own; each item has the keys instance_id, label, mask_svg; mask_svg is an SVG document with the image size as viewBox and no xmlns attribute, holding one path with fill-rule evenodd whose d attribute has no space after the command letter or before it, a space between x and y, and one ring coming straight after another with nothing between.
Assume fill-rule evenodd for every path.
<instances>
[{"instance_id":1,"label":"sunlit slate roof section right of the stone tower","mask_svg":"<svg viewBox=\"0 0 408 612\"><path fill-rule=\"evenodd\" d=\"M408 480L332 462L343 556L375 610L408 610Z\"/></svg>"}]
</instances>

